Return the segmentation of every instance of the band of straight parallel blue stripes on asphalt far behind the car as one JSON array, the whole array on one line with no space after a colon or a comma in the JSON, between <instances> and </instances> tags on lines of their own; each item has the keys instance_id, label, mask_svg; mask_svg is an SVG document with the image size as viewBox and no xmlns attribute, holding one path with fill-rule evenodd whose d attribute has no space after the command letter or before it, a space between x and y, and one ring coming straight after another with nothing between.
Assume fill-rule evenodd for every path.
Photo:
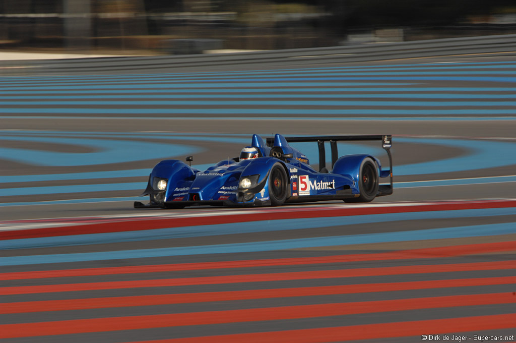
<instances>
[{"instance_id":1,"label":"band of straight parallel blue stripes on asphalt far behind the car","mask_svg":"<svg viewBox=\"0 0 516 343\"><path fill-rule=\"evenodd\" d=\"M2 117L513 119L516 62L4 77Z\"/></svg>"}]
</instances>

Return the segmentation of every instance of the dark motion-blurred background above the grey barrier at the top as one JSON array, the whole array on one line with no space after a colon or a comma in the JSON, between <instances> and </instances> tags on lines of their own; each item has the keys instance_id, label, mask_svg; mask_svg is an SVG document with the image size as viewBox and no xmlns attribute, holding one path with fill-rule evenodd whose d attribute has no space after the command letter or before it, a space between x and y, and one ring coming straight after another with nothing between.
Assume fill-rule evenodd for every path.
<instances>
[{"instance_id":1,"label":"dark motion-blurred background above the grey barrier at the top","mask_svg":"<svg viewBox=\"0 0 516 343\"><path fill-rule=\"evenodd\" d=\"M513 33L513 0L0 2L0 51L192 54Z\"/></svg>"}]
</instances>

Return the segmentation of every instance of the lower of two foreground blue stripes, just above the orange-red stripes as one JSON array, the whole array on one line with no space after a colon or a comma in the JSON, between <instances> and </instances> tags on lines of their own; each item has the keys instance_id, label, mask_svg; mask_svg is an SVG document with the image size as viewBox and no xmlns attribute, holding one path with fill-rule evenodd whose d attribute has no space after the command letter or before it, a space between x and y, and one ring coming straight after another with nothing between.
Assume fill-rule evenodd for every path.
<instances>
[{"instance_id":1,"label":"lower of two foreground blue stripes, just above the orange-red stripes","mask_svg":"<svg viewBox=\"0 0 516 343\"><path fill-rule=\"evenodd\" d=\"M246 223L248 225L249 223ZM277 250L290 250L309 247L335 245L372 244L385 242L406 242L432 239L449 239L463 237L486 237L516 233L516 223L471 225L446 227L438 229L412 230L399 232L370 233L364 235L311 237L301 239L274 240L265 242L248 242L236 244L218 244L202 246L180 246L122 250L110 252L12 256L0 257L0 266L19 266L22 264L63 263L79 261L97 261L113 259L134 259L165 256L185 256L204 254L250 253ZM271 226L270 223L267 224ZM244 225L243 225L244 226Z\"/></svg>"}]
</instances>

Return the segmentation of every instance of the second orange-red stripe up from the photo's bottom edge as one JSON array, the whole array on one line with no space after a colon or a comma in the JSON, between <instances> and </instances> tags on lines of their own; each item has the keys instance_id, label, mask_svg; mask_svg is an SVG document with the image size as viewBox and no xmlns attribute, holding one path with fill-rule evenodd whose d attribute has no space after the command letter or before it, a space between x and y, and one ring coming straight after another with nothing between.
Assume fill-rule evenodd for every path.
<instances>
[{"instance_id":1,"label":"second orange-red stripe up from the photo's bottom edge","mask_svg":"<svg viewBox=\"0 0 516 343\"><path fill-rule=\"evenodd\" d=\"M165 328L184 325L209 325L265 320L344 316L388 311L455 306L516 303L512 293L451 295L447 297L381 300L335 304L266 307L226 311L203 311L167 315L62 320L53 322L0 325L0 338L78 334ZM476 330L482 330L476 328Z\"/></svg>"}]
</instances>

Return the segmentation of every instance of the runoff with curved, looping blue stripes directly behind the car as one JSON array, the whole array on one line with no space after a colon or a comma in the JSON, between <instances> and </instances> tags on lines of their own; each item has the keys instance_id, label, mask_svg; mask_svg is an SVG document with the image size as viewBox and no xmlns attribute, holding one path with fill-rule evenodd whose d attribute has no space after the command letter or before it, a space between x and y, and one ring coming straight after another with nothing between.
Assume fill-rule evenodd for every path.
<instances>
[{"instance_id":1,"label":"runoff with curved, looping blue stripes directly behind the car","mask_svg":"<svg viewBox=\"0 0 516 343\"><path fill-rule=\"evenodd\" d=\"M4 131L0 138L4 143L0 147L0 160L20 167L6 169L8 175L0 175L0 206L76 203L85 199L141 200L137 196L145 188L157 161L204 154L205 158L196 158L200 163L196 166L204 169L228 154L238 155L241 147L250 144L249 134L159 133L158 136L159 140L155 133L149 132ZM516 155L512 153L516 143L511 139L395 136L394 140L395 189L516 182L514 173L486 175L478 171L516 165ZM222 151L220 146L228 148ZM318 161L316 144L295 146L311 161ZM414 148L400 150L402 146ZM428 153L438 157L421 160L418 153L422 147L428 147ZM379 146L343 143L338 145L338 151L340 155L367 153L385 157ZM450 151L456 153L450 155ZM329 154L327 159L330 163ZM471 173L471 170L477 171ZM467 171L470 177L464 177ZM448 174L449 178L432 176L444 173L456 174ZM427 176L407 179L417 175Z\"/></svg>"}]
</instances>

